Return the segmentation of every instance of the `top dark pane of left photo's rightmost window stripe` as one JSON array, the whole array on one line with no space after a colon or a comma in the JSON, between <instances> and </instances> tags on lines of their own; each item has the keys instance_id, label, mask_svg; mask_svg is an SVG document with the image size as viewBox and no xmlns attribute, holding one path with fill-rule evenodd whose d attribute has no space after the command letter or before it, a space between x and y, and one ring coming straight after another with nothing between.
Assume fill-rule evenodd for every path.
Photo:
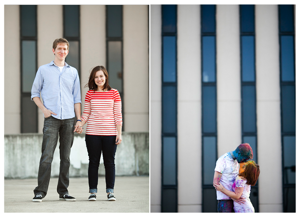
<instances>
[{"instance_id":1,"label":"top dark pane of left photo's rightmost window stripe","mask_svg":"<svg viewBox=\"0 0 300 218\"><path fill-rule=\"evenodd\" d=\"M107 37L122 37L122 5L107 5Z\"/></svg>"}]
</instances>

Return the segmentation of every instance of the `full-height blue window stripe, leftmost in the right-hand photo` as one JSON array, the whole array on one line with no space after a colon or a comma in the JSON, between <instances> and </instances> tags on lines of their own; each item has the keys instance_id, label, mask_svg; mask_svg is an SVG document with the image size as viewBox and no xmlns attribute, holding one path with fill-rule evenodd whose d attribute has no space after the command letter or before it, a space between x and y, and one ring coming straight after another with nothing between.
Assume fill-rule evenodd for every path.
<instances>
[{"instance_id":1,"label":"full-height blue window stripe, leftmost in the right-hand photo","mask_svg":"<svg viewBox=\"0 0 300 218\"><path fill-rule=\"evenodd\" d=\"M161 212L177 212L177 6L162 5Z\"/></svg>"}]
</instances>

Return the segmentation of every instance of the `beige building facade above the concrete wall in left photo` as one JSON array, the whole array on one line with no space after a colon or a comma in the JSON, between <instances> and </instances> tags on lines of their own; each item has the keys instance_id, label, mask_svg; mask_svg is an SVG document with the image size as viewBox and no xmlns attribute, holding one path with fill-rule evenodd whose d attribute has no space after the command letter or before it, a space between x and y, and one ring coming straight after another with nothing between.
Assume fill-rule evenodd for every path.
<instances>
[{"instance_id":1,"label":"beige building facade above the concrete wall in left photo","mask_svg":"<svg viewBox=\"0 0 300 218\"><path fill-rule=\"evenodd\" d=\"M121 94L122 130L149 132L148 5L4 5L4 134L42 133L31 87L61 37L79 73L81 111L91 68L103 65Z\"/></svg>"}]
</instances>

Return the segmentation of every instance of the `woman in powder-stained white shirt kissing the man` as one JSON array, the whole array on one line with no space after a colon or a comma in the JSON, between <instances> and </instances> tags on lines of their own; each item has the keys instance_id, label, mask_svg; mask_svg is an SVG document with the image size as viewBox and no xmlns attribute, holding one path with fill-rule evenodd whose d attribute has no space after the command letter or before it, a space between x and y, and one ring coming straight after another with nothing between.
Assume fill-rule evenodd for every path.
<instances>
[{"instance_id":1,"label":"woman in powder-stained white shirt kissing the man","mask_svg":"<svg viewBox=\"0 0 300 218\"><path fill-rule=\"evenodd\" d=\"M255 185L258 179L260 170L259 166L253 161L249 160L246 163L240 163L240 171L232 185L232 191L223 187L222 184L214 184L217 191L221 191L230 198L239 199L241 196L245 198L244 204L233 202L233 209L235 213L254 213L253 205L249 199L251 185Z\"/></svg>"}]
</instances>

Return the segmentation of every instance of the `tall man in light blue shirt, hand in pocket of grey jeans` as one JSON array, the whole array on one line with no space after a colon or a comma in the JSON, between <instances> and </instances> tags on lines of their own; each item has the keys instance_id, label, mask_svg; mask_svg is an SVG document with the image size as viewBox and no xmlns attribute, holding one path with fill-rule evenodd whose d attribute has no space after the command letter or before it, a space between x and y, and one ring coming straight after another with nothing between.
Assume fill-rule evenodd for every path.
<instances>
[{"instance_id":1,"label":"tall man in light blue shirt, hand in pocket of grey jeans","mask_svg":"<svg viewBox=\"0 0 300 218\"><path fill-rule=\"evenodd\" d=\"M52 51L54 61L39 67L31 90L31 100L44 114L42 156L38 170L38 186L33 191L33 202L41 202L47 194L58 136L60 168L57 192L60 200L76 201L69 195L67 187L74 132L81 126L79 76L74 67L64 62L69 53L69 42L66 39L56 39ZM74 129L75 115L78 120Z\"/></svg>"}]
</instances>

